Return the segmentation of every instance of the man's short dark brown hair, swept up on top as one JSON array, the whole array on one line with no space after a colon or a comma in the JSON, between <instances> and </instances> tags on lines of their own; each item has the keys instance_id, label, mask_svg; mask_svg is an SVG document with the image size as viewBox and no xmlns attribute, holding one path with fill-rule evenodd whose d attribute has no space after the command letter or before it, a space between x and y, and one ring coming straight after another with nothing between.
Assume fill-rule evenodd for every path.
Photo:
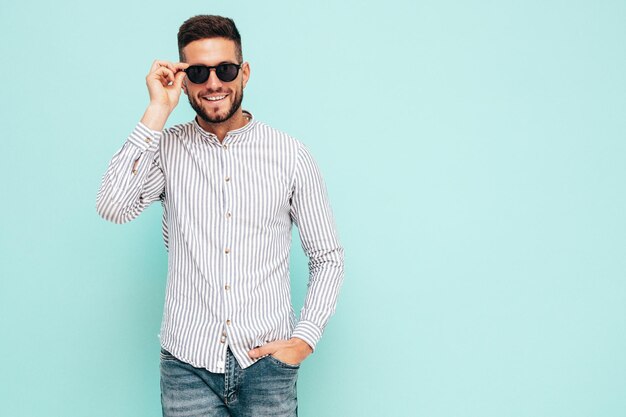
<instances>
[{"instance_id":1,"label":"man's short dark brown hair, swept up on top","mask_svg":"<svg viewBox=\"0 0 626 417\"><path fill-rule=\"evenodd\" d=\"M243 61L241 35L233 19L222 16L198 15L185 20L178 29L178 56L185 60L183 48L199 39L226 38L235 42L237 59Z\"/></svg>"}]
</instances>

